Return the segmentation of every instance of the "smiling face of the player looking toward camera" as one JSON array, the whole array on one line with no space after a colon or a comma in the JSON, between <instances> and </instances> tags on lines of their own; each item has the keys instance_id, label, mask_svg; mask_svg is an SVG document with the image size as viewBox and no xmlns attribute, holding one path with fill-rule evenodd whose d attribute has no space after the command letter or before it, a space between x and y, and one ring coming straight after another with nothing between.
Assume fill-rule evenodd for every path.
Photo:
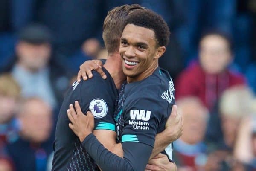
<instances>
[{"instance_id":1,"label":"smiling face of the player looking toward camera","mask_svg":"<svg viewBox=\"0 0 256 171\"><path fill-rule=\"evenodd\" d=\"M164 51L164 46L158 46L153 30L134 24L125 26L119 52L128 81L129 78L129 82L140 81L151 75Z\"/></svg>"}]
</instances>

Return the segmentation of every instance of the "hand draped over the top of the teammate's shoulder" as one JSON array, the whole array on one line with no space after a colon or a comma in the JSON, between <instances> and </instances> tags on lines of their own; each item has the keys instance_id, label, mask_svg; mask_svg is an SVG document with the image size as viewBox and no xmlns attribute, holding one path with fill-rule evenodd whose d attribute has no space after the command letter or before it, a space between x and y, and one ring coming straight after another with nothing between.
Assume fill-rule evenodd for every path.
<instances>
[{"instance_id":1,"label":"hand draped over the top of the teammate's shoulder","mask_svg":"<svg viewBox=\"0 0 256 171\"><path fill-rule=\"evenodd\" d=\"M93 78L92 70L96 70L103 79L106 79L107 76L102 70L102 65L102 61L97 59L85 61L80 65L80 70L77 74L77 81L80 82L81 77L83 77L84 81L86 81L88 78Z\"/></svg>"}]
</instances>

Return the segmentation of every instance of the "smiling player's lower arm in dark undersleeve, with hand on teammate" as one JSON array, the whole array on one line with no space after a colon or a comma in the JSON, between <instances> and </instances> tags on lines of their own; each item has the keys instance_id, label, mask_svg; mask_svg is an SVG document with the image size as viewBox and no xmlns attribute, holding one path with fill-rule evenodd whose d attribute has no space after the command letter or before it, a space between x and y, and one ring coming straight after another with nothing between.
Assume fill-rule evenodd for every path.
<instances>
[{"instance_id":1,"label":"smiling player's lower arm in dark undersleeve, with hand on teammate","mask_svg":"<svg viewBox=\"0 0 256 171\"><path fill-rule=\"evenodd\" d=\"M76 103L75 103L76 104ZM124 157L119 157L116 154L111 153L105 148L99 140L92 134L94 128L94 117L91 113L87 112L87 115L72 116L70 110L68 110L68 116L70 121L70 129L79 137L83 147L96 161L102 170L111 171L143 171L148 158L151 154L152 147L143 143L125 142L122 144L124 151ZM71 117L70 117L71 116ZM77 124L77 122L82 124ZM83 133L78 132L78 125L83 125ZM140 157L143 154L144 157ZM136 169L134 169L136 168Z\"/></svg>"}]
</instances>

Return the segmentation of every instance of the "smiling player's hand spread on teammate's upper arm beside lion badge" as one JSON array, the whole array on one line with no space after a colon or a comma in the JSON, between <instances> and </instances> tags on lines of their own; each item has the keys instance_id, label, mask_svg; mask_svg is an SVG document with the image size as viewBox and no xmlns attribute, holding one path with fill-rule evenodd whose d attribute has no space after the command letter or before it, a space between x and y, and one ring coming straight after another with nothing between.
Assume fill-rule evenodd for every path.
<instances>
[{"instance_id":1,"label":"smiling player's hand spread on teammate's upper arm beside lion badge","mask_svg":"<svg viewBox=\"0 0 256 171\"><path fill-rule=\"evenodd\" d=\"M75 101L76 110L73 104L70 104L67 110L67 116L71 123L68 124L69 128L73 130L76 136L79 137L80 141L83 142L84 139L93 132L94 129L94 117L91 112L87 112L87 115L81 111L81 107L78 101Z\"/></svg>"}]
</instances>

